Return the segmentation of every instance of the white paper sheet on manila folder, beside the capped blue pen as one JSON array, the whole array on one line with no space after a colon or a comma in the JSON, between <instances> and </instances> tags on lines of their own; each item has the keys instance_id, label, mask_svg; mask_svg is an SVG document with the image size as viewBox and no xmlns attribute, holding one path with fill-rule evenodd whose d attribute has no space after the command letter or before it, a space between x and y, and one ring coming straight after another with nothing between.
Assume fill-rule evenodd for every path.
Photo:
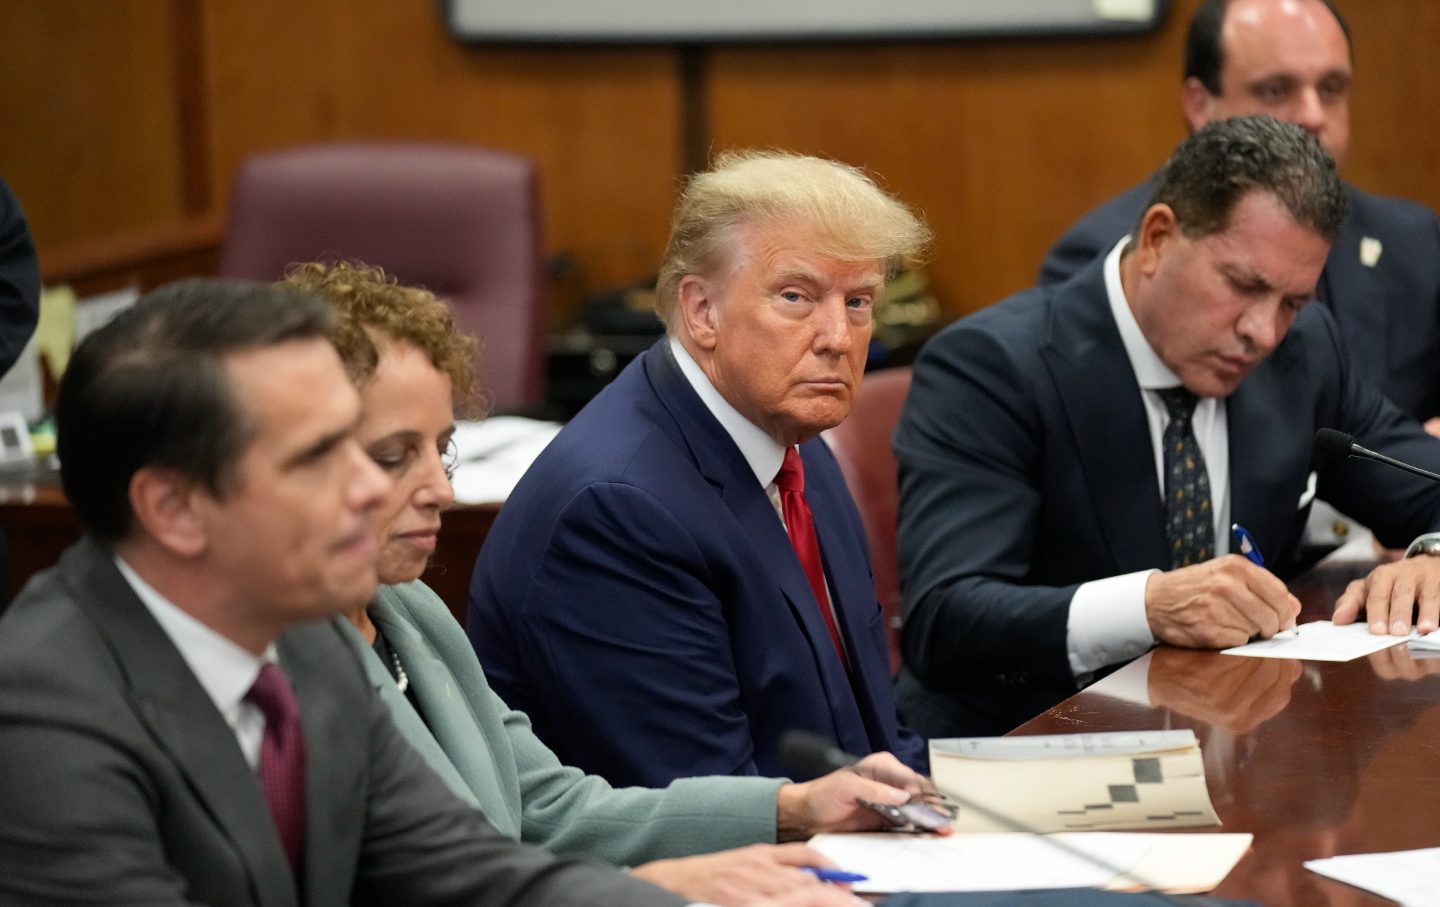
<instances>
[{"instance_id":1,"label":"white paper sheet on manila folder, beside the capped blue pen","mask_svg":"<svg viewBox=\"0 0 1440 907\"><path fill-rule=\"evenodd\" d=\"M1064 838L1090 859L1044 835L816 835L809 845L841 870L868 877L855 891L877 894L1099 888L1135 868L1149 849L1133 836Z\"/></svg>"}]
</instances>

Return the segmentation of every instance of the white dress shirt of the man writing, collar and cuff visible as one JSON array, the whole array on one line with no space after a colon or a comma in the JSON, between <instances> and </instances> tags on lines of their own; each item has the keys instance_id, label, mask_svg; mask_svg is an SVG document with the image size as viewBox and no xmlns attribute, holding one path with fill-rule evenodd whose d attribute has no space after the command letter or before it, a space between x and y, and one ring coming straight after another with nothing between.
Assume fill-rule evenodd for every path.
<instances>
[{"instance_id":1,"label":"white dress shirt of the man writing, collar and cuff visible","mask_svg":"<svg viewBox=\"0 0 1440 907\"><path fill-rule=\"evenodd\" d=\"M1165 501L1165 451L1162 439L1169 415L1161 400L1159 390L1179 386L1179 379L1161 361L1135 321L1125 288L1120 285L1120 255L1130 242L1122 239L1104 259L1104 289L1110 299L1110 314L1120 331L1120 341L1135 370L1140 396L1145 399L1145 416L1151 429L1151 448L1155 454L1156 494ZM1210 477L1211 510L1215 514L1215 554L1230 550L1230 432L1225 422L1225 402L1201 397L1191 420L1200 452L1205 456L1205 472ZM1152 645L1149 621L1145 616L1145 583L1158 570L1140 570L1125 576L1093 580L1076 589L1070 599L1070 618L1066 626L1066 648L1070 654L1070 669L1080 682L1097 668L1138 658Z\"/></svg>"}]
</instances>

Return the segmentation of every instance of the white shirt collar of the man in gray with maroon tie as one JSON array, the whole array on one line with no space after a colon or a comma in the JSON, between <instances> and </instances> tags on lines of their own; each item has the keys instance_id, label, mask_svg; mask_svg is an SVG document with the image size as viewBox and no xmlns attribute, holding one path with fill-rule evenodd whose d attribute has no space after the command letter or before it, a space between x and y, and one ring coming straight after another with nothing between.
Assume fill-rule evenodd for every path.
<instances>
[{"instance_id":1,"label":"white shirt collar of the man in gray with maroon tie","mask_svg":"<svg viewBox=\"0 0 1440 907\"><path fill-rule=\"evenodd\" d=\"M256 658L156 592L156 587L141 579L118 554L115 566L160 629L180 649L180 656L190 665L190 671L220 714L229 714L255 684L261 665L275 661L275 645L271 644L265 655Z\"/></svg>"}]
</instances>

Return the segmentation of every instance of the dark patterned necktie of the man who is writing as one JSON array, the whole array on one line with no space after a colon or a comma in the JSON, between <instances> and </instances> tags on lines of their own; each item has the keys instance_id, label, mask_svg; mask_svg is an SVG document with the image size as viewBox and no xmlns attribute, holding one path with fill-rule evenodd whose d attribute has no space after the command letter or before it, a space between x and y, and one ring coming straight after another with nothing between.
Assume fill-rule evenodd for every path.
<instances>
[{"instance_id":1,"label":"dark patterned necktie of the man who is writing","mask_svg":"<svg viewBox=\"0 0 1440 907\"><path fill-rule=\"evenodd\" d=\"M1215 514L1205 456L1191 425L1198 397L1184 387L1156 393L1169 413L1161 443L1165 448L1165 547L1174 570L1215 556Z\"/></svg>"}]
</instances>

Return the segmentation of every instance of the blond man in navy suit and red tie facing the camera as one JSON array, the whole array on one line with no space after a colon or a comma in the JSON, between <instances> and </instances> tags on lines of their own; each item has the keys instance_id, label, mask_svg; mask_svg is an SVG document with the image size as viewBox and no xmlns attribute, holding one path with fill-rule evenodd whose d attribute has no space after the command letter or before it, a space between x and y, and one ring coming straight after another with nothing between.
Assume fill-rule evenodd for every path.
<instances>
[{"instance_id":1,"label":"blond man in navy suit and red tie facing the camera","mask_svg":"<svg viewBox=\"0 0 1440 907\"><path fill-rule=\"evenodd\" d=\"M801 728L924 766L816 435L850 413L876 299L927 239L832 161L724 155L687 184L660 274L668 335L536 461L471 583L491 682L563 762L618 785L780 775ZM789 510L796 472L811 515Z\"/></svg>"}]
</instances>

